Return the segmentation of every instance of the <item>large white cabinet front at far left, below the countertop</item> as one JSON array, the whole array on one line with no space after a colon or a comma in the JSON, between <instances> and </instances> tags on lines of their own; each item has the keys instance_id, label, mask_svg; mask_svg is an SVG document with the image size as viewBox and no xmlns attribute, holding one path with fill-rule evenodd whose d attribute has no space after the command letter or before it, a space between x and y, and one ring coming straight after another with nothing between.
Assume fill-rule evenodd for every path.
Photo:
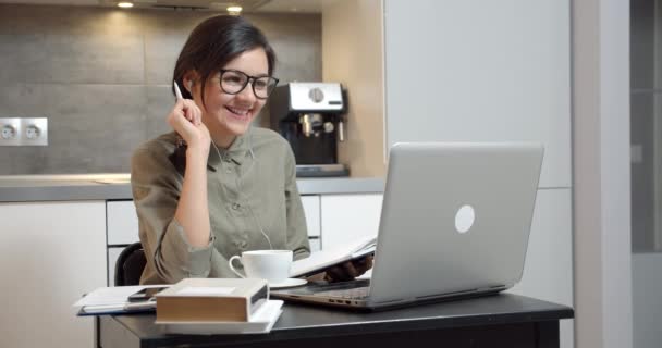
<instances>
[{"instance_id":1,"label":"large white cabinet front at far left, below the countertop","mask_svg":"<svg viewBox=\"0 0 662 348\"><path fill-rule=\"evenodd\" d=\"M72 304L106 286L106 202L0 203L2 347L94 347Z\"/></svg>"}]
</instances>

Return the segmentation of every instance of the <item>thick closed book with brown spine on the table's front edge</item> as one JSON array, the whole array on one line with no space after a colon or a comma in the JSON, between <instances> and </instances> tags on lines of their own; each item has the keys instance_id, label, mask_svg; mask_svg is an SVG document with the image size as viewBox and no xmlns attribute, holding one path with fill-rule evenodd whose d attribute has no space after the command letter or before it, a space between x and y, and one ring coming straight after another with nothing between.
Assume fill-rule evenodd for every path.
<instances>
[{"instance_id":1,"label":"thick closed book with brown spine on the table's front edge","mask_svg":"<svg viewBox=\"0 0 662 348\"><path fill-rule=\"evenodd\" d=\"M265 279L186 278L157 294L159 322L247 322L269 299Z\"/></svg>"}]
</instances>

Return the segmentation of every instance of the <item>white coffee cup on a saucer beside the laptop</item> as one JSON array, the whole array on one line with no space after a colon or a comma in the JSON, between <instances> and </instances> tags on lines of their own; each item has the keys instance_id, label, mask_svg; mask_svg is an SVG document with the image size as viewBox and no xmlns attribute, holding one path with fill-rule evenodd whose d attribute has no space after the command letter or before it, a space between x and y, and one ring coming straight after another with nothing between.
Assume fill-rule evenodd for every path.
<instances>
[{"instance_id":1,"label":"white coffee cup on a saucer beside the laptop","mask_svg":"<svg viewBox=\"0 0 662 348\"><path fill-rule=\"evenodd\" d=\"M281 283L290 277L292 256L292 250L244 251L241 257L235 254L230 258L228 265L234 274L243 278L262 278L272 284ZM245 275L232 265L234 260L240 260L244 265Z\"/></svg>"}]
</instances>

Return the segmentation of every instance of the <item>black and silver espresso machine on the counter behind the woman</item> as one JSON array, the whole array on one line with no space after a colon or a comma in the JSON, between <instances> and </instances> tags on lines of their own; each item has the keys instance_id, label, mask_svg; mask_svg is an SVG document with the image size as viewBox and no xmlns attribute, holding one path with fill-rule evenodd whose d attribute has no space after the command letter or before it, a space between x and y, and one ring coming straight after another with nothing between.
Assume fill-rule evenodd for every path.
<instances>
[{"instance_id":1,"label":"black and silver espresso machine on the counter behind the woman","mask_svg":"<svg viewBox=\"0 0 662 348\"><path fill-rule=\"evenodd\" d=\"M338 83L290 83L269 97L271 128L290 142L296 176L347 176L338 163L338 141L344 141L346 90Z\"/></svg>"}]
</instances>

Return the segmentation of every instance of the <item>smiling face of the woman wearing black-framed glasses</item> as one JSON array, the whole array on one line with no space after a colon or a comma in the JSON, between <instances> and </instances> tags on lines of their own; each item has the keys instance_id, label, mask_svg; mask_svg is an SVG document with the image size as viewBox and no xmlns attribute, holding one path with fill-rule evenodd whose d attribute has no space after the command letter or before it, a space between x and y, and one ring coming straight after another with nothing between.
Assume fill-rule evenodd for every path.
<instances>
[{"instance_id":1,"label":"smiling face of the woman wearing black-framed glasses","mask_svg":"<svg viewBox=\"0 0 662 348\"><path fill-rule=\"evenodd\" d=\"M243 72L248 76L266 76L269 74L267 53L262 48L246 51L222 69ZM255 96L255 80L250 80L238 94L230 95L221 89L220 77L221 74L218 73L207 80L205 104L198 102L198 105L203 110L203 122L209 128L213 141L228 147L236 136L248 129L267 100ZM199 94L196 97L199 100Z\"/></svg>"}]
</instances>

